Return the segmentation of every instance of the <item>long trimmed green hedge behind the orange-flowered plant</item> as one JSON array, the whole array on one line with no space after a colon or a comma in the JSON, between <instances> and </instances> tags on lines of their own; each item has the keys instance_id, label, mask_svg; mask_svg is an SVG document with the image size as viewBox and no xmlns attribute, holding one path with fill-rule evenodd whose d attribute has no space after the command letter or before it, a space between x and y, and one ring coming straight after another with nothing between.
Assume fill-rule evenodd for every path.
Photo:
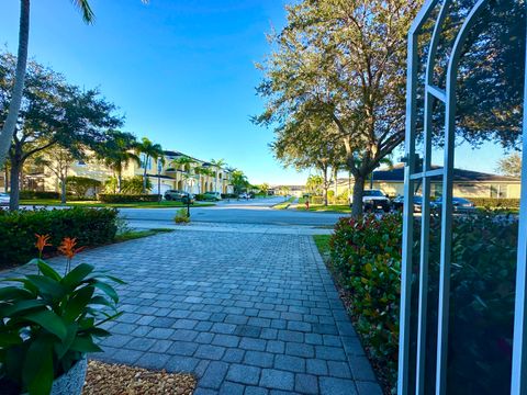
<instances>
[{"instance_id":1,"label":"long trimmed green hedge behind the orange-flowered plant","mask_svg":"<svg viewBox=\"0 0 527 395\"><path fill-rule=\"evenodd\" d=\"M36 255L35 234L49 235L55 252L65 237L77 238L78 246L113 241L117 230L114 208L75 207L7 212L0 210L0 268L22 264Z\"/></svg>"}]
</instances>

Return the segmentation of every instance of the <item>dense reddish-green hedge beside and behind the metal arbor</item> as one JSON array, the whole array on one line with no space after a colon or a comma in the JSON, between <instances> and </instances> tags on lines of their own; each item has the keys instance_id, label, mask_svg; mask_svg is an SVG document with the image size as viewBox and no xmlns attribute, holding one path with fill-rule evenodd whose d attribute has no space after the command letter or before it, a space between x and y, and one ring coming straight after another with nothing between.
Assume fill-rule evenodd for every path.
<instances>
[{"instance_id":1,"label":"dense reddish-green hedge beside and behind the metal arbor","mask_svg":"<svg viewBox=\"0 0 527 395\"><path fill-rule=\"evenodd\" d=\"M415 222L418 239L421 223ZM457 394L508 393L518 223L482 213L452 225L449 383ZM350 313L384 379L396 382L402 218L397 214L341 218L330 240L332 269L347 291ZM440 217L430 218L427 359L436 356ZM416 328L419 242L414 245L412 328ZM435 318L434 318L435 317ZM413 329L415 330L415 329ZM416 338L412 332L411 354ZM426 376L433 377L434 364ZM449 385L450 385L449 384Z\"/></svg>"}]
</instances>

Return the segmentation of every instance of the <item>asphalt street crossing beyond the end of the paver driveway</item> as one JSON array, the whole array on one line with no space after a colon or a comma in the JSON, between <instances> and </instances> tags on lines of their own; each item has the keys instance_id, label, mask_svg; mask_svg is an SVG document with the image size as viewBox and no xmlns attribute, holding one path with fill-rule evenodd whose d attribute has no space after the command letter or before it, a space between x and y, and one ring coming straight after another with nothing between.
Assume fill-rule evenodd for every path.
<instances>
[{"instance_id":1,"label":"asphalt street crossing beyond the end of the paver driveway","mask_svg":"<svg viewBox=\"0 0 527 395\"><path fill-rule=\"evenodd\" d=\"M220 202L211 207L190 208L192 222L259 224L283 226L333 226L344 214L301 212L296 210L273 210L273 204L283 198L256 199L249 201ZM130 222L141 221L173 223L178 208L121 208L121 215Z\"/></svg>"}]
</instances>

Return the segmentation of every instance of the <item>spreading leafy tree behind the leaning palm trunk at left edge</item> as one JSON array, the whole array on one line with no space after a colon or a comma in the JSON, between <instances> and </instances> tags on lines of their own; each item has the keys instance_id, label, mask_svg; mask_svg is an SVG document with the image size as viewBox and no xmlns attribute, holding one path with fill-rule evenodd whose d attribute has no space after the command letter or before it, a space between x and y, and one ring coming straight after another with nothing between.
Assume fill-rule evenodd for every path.
<instances>
[{"instance_id":1,"label":"spreading leafy tree behind the leaning palm trunk at left edge","mask_svg":"<svg viewBox=\"0 0 527 395\"><path fill-rule=\"evenodd\" d=\"M16 59L0 54L0 125L8 116L9 86L15 74ZM98 90L81 90L64 77L30 61L24 94L13 142L9 149L11 210L19 207L20 172L32 156L60 145L81 156L85 147L97 147L105 140L105 131L122 124L113 115L115 105L101 98Z\"/></svg>"}]
</instances>

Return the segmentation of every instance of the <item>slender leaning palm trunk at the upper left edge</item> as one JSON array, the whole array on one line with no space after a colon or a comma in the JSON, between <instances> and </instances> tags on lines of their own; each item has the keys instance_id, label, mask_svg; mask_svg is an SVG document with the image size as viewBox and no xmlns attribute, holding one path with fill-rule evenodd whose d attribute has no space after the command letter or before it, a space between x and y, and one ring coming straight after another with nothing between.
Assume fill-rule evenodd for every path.
<instances>
[{"instance_id":1,"label":"slender leaning palm trunk at the upper left edge","mask_svg":"<svg viewBox=\"0 0 527 395\"><path fill-rule=\"evenodd\" d=\"M27 45L30 40L30 0L20 1L20 31L19 53L16 58L16 70L14 75L14 87L9 103L8 116L0 132L0 168L5 163L9 147L13 138L16 121L19 119L22 95L24 93L25 69L27 65Z\"/></svg>"}]
</instances>

